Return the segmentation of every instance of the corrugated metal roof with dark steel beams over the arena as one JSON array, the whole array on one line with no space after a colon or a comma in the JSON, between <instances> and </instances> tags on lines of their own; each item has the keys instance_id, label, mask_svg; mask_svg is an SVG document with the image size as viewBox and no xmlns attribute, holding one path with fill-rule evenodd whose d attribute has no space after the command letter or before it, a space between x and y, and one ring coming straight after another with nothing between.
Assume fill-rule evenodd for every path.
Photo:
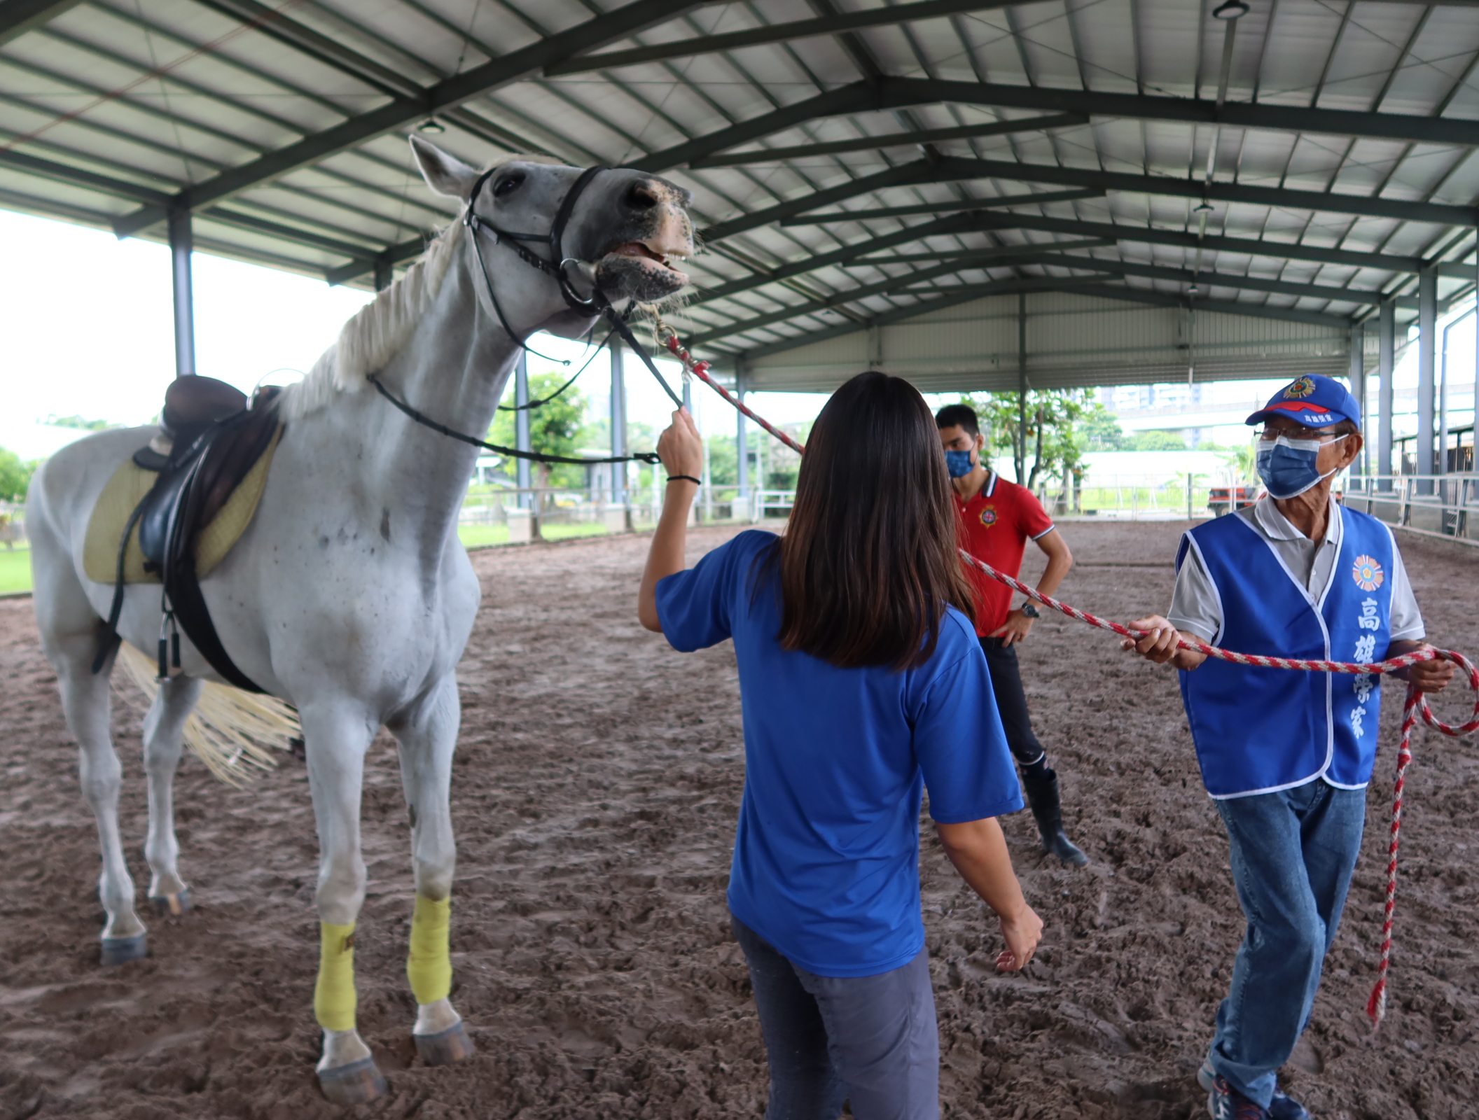
<instances>
[{"instance_id":1,"label":"corrugated metal roof with dark steel beams over the arena","mask_svg":"<svg viewBox=\"0 0 1479 1120\"><path fill-rule=\"evenodd\" d=\"M368 284L451 216L417 127L633 164L694 191L682 327L731 362L1003 285L1331 331L1408 318L1424 266L1472 290L1479 4L1213 7L3 0L0 205L151 238L185 207L201 248Z\"/></svg>"}]
</instances>

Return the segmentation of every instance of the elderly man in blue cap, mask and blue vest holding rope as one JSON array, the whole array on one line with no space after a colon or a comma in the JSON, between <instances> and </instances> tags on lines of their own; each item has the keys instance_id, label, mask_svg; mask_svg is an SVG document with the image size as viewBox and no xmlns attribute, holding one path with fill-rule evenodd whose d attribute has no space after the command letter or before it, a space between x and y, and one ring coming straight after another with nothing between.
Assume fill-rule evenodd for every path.
<instances>
[{"instance_id":1,"label":"elderly man in blue cap, mask and blue vest holding rope","mask_svg":"<svg viewBox=\"0 0 1479 1120\"><path fill-rule=\"evenodd\" d=\"M1424 649L1392 530L1337 505L1331 479L1361 452L1361 412L1328 377L1300 377L1248 417L1262 424L1268 496L1182 538L1167 618L1126 649L1180 669L1202 782L1228 829L1248 919L1198 1080L1216 1120L1307 1120L1278 1068L1309 1024L1361 847L1380 681L1259 669L1176 647L1186 638L1284 658L1381 660ZM1396 675L1424 692L1454 674Z\"/></svg>"}]
</instances>

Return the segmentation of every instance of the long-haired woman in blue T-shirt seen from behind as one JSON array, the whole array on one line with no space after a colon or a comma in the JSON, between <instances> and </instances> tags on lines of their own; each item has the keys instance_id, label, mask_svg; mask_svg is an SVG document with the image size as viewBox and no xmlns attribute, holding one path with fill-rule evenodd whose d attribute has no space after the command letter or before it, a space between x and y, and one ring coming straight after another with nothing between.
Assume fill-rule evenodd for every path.
<instances>
[{"instance_id":1,"label":"long-haired woman in blue T-shirt seen from behind","mask_svg":"<svg viewBox=\"0 0 1479 1120\"><path fill-rule=\"evenodd\" d=\"M816 418L785 536L744 532L685 570L703 443L688 412L637 601L691 652L734 638L745 788L729 878L771 1062L768 1120L939 1116L918 813L998 915L1019 969L1043 923L995 817L1022 808L929 406L859 374Z\"/></svg>"}]
</instances>

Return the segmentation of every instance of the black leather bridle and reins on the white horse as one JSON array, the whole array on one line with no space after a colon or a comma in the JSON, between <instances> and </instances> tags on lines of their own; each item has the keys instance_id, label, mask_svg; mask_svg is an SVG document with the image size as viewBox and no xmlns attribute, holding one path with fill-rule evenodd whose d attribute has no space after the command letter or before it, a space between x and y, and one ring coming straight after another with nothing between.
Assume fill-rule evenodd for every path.
<instances>
[{"instance_id":1,"label":"black leather bridle and reins on the white horse","mask_svg":"<svg viewBox=\"0 0 1479 1120\"><path fill-rule=\"evenodd\" d=\"M484 287L487 287L488 290L488 300L493 303L493 310L498 316L498 324L503 327L504 332L525 353L531 353L535 358L544 358L546 361L556 361L549 358L547 355L541 355L538 350L531 349L527 338L521 337L519 332L513 329L513 325L509 322L509 316L503 313L503 304L498 303L498 294L497 291L494 291L493 287L493 276L488 273L488 262L482 256L482 241L478 236L482 232L487 232L493 238L494 245L500 244L507 245L527 264L532 264L540 272L546 273L547 276L552 276L555 279L555 284L559 287L559 294L565 298L565 303L572 310L590 312L605 318L606 322L611 324L611 332L606 335L602 344L596 347L596 352L599 353L602 349L605 349L605 346L611 341L612 334L620 335L621 340L637 353L637 356L642 359L642 363L651 371L652 377L657 378L657 383L663 386L663 392L667 393L669 397L671 397L674 405L682 408L683 399L673 392L673 387L667 383L663 374L658 372L657 363L652 361L652 355L649 355L646 352L646 347L643 347L642 343L636 340L636 335L632 334L632 328L627 325L626 318L615 307L611 306L611 300L606 298L606 294L600 290L600 287L595 281L592 281L590 296L581 297L581 294L575 291L575 287L571 284L569 273L566 270L568 264L578 266L583 263L575 257L566 257L563 245L565 226L569 225L571 214L575 211L575 204L580 201L581 194L587 186L590 186L590 183L596 179L598 174L615 168L600 165L600 167L587 167L584 171L581 171L580 176L575 179L575 182L571 183L569 191L565 192L565 198L561 199L559 210L555 211L555 220L550 222L549 233L518 233L512 229L501 229L493 225L493 222L479 217L478 195L482 192L482 188L488 182L490 176L493 176L493 173L497 170L498 170L497 167L491 167L482 174L479 174L476 182L473 182L472 191L467 195L467 210L463 213L463 225L472 233L473 253L478 257L478 270L482 273ZM550 257L544 259L538 253L534 253L524 244L527 241L543 242L549 245ZM592 355L592 359L593 358L595 355ZM586 365L590 365L590 361L587 361ZM583 365L580 371L575 372L575 377L580 377L580 372L584 371L586 365ZM569 378L569 381L561 386L561 389L555 393L555 396L563 393L565 389L568 389L574 383L574 380L575 378L572 377ZM519 451L516 448L503 448L498 446L497 443L485 443L484 440L476 439L475 436L469 436L463 431L450 428L445 424L439 424L438 421L432 420L423 412L419 412L417 409L411 408L411 405L408 405L405 400L401 400L393 393L390 393L390 390L386 389L385 384L382 384L379 375L371 374L370 383L376 387L380 396L383 396L386 400L389 400L392 405L401 409L401 412L414 420L417 424L429 427L433 431L439 431L444 436L461 440L463 443L470 443L475 448L495 451L500 455L510 455L519 460L529 460L531 462L569 462L577 465L596 464L596 462L632 462L632 461L654 462L654 464L660 462L658 457L654 452L637 452L634 455L612 455L609 458L599 458L599 460L574 460L574 458L566 458L563 455L541 455L540 452L534 451Z\"/></svg>"}]
</instances>

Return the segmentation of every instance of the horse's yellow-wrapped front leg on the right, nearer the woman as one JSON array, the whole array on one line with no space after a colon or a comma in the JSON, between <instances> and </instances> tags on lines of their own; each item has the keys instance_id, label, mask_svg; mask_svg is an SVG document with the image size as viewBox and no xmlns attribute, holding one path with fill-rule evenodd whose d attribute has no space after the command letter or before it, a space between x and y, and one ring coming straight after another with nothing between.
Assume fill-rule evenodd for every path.
<instances>
[{"instance_id":1,"label":"horse's yellow-wrapped front leg on the right, nearer the woman","mask_svg":"<svg viewBox=\"0 0 1479 1120\"><path fill-rule=\"evenodd\" d=\"M416 996L411 1036L427 1065L445 1065L473 1052L461 1015L448 999L453 987L448 937L457 864L448 793L460 724L461 706L453 674L389 724L401 743L401 782L411 814L416 867L416 912L405 960L405 975Z\"/></svg>"}]
</instances>

